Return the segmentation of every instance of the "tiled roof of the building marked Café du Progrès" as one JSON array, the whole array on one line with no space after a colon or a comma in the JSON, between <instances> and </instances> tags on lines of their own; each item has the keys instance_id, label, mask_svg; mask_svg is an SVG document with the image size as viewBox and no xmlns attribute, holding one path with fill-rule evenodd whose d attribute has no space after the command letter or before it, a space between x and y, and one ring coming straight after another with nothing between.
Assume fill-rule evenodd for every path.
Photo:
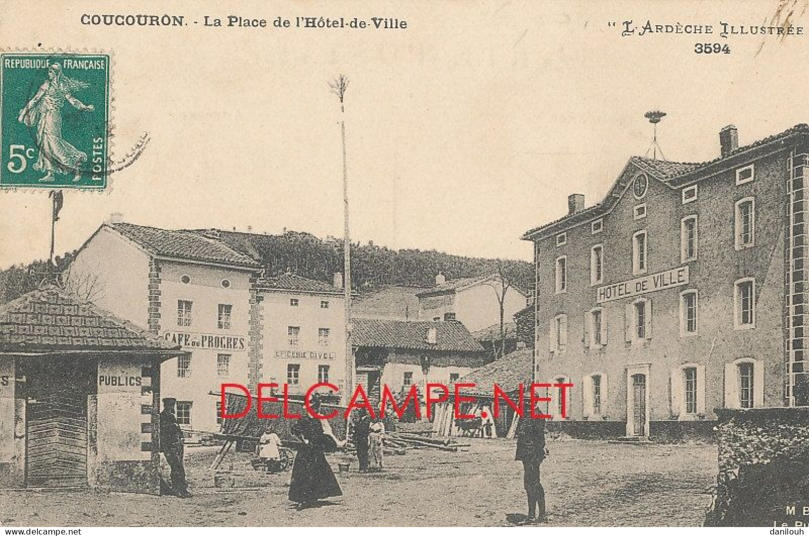
<instances>
[{"instance_id":1,"label":"tiled roof of the building marked Caf\u00e9 du Progr\u00e8s","mask_svg":"<svg viewBox=\"0 0 809 536\"><path fill-rule=\"evenodd\" d=\"M259 266L248 255L236 251L221 240L206 237L195 231L158 229L156 227L137 226L133 223L110 223L107 225L134 243L138 243L153 255L228 264L244 268L258 268Z\"/></svg>"}]
</instances>

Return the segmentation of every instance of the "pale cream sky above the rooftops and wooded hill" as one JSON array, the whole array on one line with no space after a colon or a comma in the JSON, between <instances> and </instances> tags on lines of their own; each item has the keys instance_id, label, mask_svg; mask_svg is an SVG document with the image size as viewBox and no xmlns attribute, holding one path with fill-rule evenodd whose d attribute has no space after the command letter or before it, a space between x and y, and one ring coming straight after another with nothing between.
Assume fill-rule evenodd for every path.
<instances>
[{"instance_id":1,"label":"pale cream sky above the rooftops and wooded hill","mask_svg":"<svg viewBox=\"0 0 809 536\"><path fill-rule=\"evenodd\" d=\"M791 19L809 15L796 4ZM47 9L44 7L47 6ZM110 214L166 228L342 234L345 120L351 233L395 248L530 260L520 236L587 205L659 125L666 158L716 158L718 132L744 145L809 122L809 35L718 36L759 25L778 2L19 2L4 49L113 57L113 158L150 142L104 193L65 194L56 250ZM104 27L89 14L164 12L188 26ZM404 19L404 30L212 28L243 15ZM621 36L621 21L711 24L714 35ZM196 24L193 21L197 21ZM616 22L616 27L610 23ZM729 54L697 54L697 41ZM345 115L328 82L345 74ZM6 143L6 141L2 141ZM4 164L5 165L5 164ZM47 258L45 192L0 192L0 268Z\"/></svg>"}]
</instances>

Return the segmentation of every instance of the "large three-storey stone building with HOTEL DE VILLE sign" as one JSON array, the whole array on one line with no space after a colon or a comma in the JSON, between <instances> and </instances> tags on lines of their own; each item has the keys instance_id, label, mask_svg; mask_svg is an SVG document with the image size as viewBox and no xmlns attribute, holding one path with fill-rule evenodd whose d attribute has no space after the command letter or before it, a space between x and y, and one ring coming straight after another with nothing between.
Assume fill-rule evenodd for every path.
<instances>
[{"instance_id":1,"label":"large three-storey stone building with HOTEL DE VILLE sign","mask_svg":"<svg viewBox=\"0 0 809 536\"><path fill-rule=\"evenodd\" d=\"M709 162L629 159L607 196L529 230L537 382L572 382L553 427L709 433L722 407L809 405L809 126Z\"/></svg>"}]
</instances>

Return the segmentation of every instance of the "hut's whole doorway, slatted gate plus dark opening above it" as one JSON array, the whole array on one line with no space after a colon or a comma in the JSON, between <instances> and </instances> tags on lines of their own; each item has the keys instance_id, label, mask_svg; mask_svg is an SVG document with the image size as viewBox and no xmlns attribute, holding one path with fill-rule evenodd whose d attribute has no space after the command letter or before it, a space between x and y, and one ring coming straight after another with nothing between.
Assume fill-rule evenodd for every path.
<instances>
[{"instance_id":1,"label":"hut's whole doorway, slatted gate plus dark opening above it","mask_svg":"<svg viewBox=\"0 0 809 536\"><path fill-rule=\"evenodd\" d=\"M87 486L87 397L97 364L49 356L20 363L26 400L25 485Z\"/></svg>"}]
</instances>

